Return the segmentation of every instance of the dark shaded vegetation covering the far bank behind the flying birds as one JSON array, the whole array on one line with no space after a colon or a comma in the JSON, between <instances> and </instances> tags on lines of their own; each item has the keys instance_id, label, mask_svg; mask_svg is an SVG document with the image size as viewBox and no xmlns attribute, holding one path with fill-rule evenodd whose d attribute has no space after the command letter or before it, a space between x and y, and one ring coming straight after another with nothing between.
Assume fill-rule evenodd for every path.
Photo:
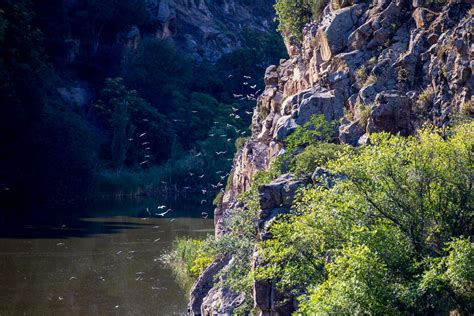
<instances>
[{"instance_id":1,"label":"dark shaded vegetation covering the far bank behind the flying birds","mask_svg":"<svg viewBox=\"0 0 474 316\"><path fill-rule=\"evenodd\" d=\"M0 4L0 194L15 206L220 188L254 104L233 94L262 87L265 65L284 56L277 33L247 29L216 64L190 60L147 35L156 22L144 0ZM64 97L78 83L85 105Z\"/></svg>"}]
</instances>

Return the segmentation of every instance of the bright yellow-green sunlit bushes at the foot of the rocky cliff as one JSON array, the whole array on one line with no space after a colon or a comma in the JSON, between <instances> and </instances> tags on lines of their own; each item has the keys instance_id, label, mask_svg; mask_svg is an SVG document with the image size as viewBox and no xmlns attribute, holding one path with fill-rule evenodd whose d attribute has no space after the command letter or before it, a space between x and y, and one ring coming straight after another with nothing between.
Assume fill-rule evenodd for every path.
<instances>
[{"instance_id":1,"label":"bright yellow-green sunlit bushes at the foot of the rocky cliff","mask_svg":"<svg viewBox=\"0 0 474 316\"><path fill-rule=\"evenodd\" d=\"M238 258L224 272L227 285L249 297L254 279L270 280L298 298L303 314L472 313L474 124L408 138L374 134L371 145L327 150L331 134L321 131L329 125L313 123L298 131L303 151L256 175L235 211L240 226L202 244ZM333 176L302 189L291 213L268 228L272 237L259 241L258 185L285 165L311 174L314 164L302 160ZM252 270L255 244L263 264Z\"/></svg>"}]
</instances>

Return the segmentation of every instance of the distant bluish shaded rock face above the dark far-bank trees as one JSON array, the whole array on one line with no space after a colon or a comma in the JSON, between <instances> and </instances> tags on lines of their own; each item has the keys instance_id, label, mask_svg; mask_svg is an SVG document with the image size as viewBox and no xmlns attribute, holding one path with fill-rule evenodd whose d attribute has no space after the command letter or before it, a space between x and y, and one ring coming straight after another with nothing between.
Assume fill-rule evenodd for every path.
<instances>
[{"instance_id":1,"label":"distant bluish shaded rock face above the dark far-bank trees","mask_svg":"<svg viewBox=\"0 0 474 316\"><path fill-rule=\"evenodd\" d=\"M148 0L156 36L172 37L195 59L216 61L243 45L241 31L274 28L271 0Z\"/></svg>"}]
</instances>

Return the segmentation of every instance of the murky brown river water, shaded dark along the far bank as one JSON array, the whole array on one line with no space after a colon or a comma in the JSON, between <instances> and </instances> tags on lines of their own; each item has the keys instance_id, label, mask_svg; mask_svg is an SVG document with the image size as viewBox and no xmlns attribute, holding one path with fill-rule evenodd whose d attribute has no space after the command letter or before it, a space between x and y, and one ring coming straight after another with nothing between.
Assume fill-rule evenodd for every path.
<instances>
[{"instance_id":1,"label":"murky brown river water, shaded dark along the far bank","mask_svg":"<svg viewBox=\"0 0 474 316\"><path fill-rule=\"evenodd\" d=\"M98 201L3 220L0 315L184 314L186 294L160 257L176 237L213 233L201 200Z\"/></svg>"}]
</instances>

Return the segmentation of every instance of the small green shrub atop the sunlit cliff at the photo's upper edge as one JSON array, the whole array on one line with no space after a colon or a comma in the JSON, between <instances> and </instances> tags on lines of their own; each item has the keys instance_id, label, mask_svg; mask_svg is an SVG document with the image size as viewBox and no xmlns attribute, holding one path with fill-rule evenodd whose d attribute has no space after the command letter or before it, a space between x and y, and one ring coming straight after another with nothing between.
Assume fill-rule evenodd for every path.
<instances>
[{"instance_id":1,"label":"small green shrub atop the sunlit cliff at the photo's upper edge","mask_svg":"<svg viewBox=\"0 0 474 316\"><path fill-rule=\"evenodd\" d=\"M277 0L275 3L278 30L301 39L303 26L311 19L318 19L323 9L323 0Z\"/></svg>"}]
</instances>

